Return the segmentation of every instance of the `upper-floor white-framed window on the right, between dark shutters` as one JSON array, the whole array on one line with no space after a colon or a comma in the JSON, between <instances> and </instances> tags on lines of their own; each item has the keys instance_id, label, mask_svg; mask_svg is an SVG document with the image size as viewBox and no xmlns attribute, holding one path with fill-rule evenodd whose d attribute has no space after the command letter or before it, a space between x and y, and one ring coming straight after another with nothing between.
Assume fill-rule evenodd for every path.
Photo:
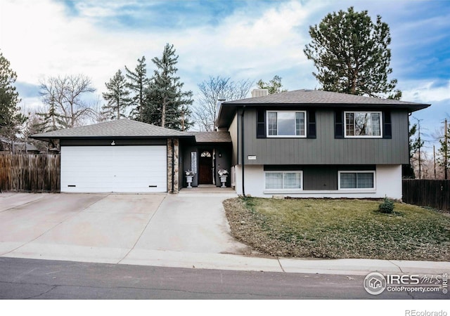
<instances>
[{"instance_id":1,"label":"upper-floor white-framed window on the right, between dark shutters","mask_svg":"<svg viewBox=\"0 0 450 316\"><path fill-rule=\"evenodd\" d=\"M382 138L381 112L344 112L345 137Z\"/></svg>"}]
</instances>

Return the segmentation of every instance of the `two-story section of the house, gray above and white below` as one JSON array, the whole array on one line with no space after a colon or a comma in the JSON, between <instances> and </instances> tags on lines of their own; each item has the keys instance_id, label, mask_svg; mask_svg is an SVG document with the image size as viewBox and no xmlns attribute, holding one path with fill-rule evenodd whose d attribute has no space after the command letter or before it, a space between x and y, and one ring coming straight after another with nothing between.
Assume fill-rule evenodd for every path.
<instances>
[{"instance_id":1,"label":"two-story section of the house, gray above and white below","mask_svg":"<svg viewBox=\"0 0 450 316\"><path fill-rule=\"evenodd\" d=\"M428 106L306 89L221 103L231 185L255 197L401 199L409 114Z\"/></svg>"}]
</instances>

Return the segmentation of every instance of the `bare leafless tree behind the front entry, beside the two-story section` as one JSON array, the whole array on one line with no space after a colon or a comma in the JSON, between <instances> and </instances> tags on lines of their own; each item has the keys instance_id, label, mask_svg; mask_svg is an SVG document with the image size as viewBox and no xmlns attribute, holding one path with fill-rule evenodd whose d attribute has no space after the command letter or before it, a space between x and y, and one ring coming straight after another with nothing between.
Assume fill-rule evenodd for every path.
<instances>
[{"instance_id":1,"label":"bare leafless tree behind the front entry, beside the two-story section","mask_svg":"<svg viewBox=\"0 0 450 316\"><path fill-rule=\"evenodd\" d=\"M200 96L194 110L195 119L202 131L216 129L217 102L219 100L239 100L247 96L253 84L250 79L232 81L230 77L210 77L198 84Z\"/></svg>"}]
</instances>

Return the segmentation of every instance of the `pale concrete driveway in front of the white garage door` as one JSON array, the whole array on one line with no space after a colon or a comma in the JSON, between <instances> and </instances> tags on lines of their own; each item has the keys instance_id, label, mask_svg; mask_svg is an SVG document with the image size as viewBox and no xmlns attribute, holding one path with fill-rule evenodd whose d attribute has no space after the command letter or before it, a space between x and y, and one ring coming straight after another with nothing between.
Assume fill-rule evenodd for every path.
<instances>
[{"instance_id":1,"label":"pale concrete driveway in front of the white garage door","mask_svg":"<svg viewBox=\"0 0 450 316\"><path fill-rule=\"evenodd\" d=\"M240 254L226 197L0 194L0 256L102 263L158 261L161 251Z\"/></svg>"}]
</instances>

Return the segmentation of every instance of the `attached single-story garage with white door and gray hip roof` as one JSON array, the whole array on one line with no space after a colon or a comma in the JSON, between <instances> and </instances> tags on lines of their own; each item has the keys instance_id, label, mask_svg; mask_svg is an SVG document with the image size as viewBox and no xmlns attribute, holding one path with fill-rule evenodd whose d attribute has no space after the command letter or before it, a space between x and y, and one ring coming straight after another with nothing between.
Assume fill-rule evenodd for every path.
<instances>
[{"instance_id":1,"label":"attached single-story garage with white door and gray hip roof","mask_svg":"<svg viewBox=\"0 0 450 316\"><path fill-rule=\"evenodd\" d=\"M33 135L60 142L61 192L177 192L179 139L193 135L119 119Z\"/></svg>"}]
</instances>

